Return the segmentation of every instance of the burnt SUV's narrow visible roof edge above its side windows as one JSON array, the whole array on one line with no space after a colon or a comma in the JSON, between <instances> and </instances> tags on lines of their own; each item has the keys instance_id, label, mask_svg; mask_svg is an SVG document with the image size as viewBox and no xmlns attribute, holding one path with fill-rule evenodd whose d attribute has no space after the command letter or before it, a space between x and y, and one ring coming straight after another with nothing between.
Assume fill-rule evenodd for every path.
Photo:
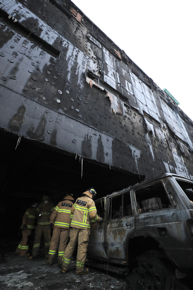
<instances>
[{"instance_id":1,"label":"burnt SUV's narrow visible roof edge above its side windows","mask_svg":"<svg viewBox=\"0 0 193 290\"><path fill-rule=\"evenodd\" d=\"M159 180L159 179L161 179L161 178L163 178L163 177L168 177L168 176L180 177L180 178L183 178L184 180L191 180L191 181L192 181L192 179L187 178L187 177L184 177L184 176L181 176L181 175L177 175L177 174L173 174L173 173L163 173L163 174L161 174L161 175L159 175L159 176L155 176L155 177L152 177L152 178L147 179L147 180L145 180L145 181L142 181L142 182L136 183L136 184L134 184L134 185L131 185L131 186L127 187L127 188L124 188L124 189L122 189L122 190L120 190L120 191L115 191L115 192L113 192L113 193L111 193L111 194L109 194L109 195L106 195L105 197L101 197L101 198L111 197L111 196L113 196L113 195L116 195L116 194L122 193L122 192L124 192L124 191L128 191L128 190L130 190L130 189L133 189L133 188L135 188L135 187L141 186L141 185L143 185L143 184L150 183L150 182L152 182L152 181L156 181L156 180ZM101 200L101 198L99 198L98 200ZM95 202L97 202L98 200L96 200Z\"/></svg>"}]
</instances>

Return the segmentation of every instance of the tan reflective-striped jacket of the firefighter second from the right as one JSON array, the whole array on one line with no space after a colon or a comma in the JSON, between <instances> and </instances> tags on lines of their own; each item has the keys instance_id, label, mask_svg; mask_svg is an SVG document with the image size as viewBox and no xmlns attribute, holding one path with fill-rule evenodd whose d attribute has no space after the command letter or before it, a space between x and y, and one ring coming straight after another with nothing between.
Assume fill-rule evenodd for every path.
<instances>
[{"instance_id":1,"label":"tan reflective-striped jacket of the firefighter second from the right","mask_svg":"<svg viewBox=\"0 0 193 290\"><path fill-rule=\"evenodd\" d=\"M73 205L72 200L68 199L59 202L57 206L55 206L49 222L54 222L55 227L69 229L72 220L71 209Z\"/></svg>"}]
</instances>

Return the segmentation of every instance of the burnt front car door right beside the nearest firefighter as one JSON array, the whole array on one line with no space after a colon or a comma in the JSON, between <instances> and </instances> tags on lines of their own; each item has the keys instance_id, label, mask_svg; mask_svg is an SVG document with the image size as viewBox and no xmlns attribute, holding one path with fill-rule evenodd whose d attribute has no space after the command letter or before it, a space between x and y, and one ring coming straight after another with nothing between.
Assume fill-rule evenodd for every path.
<instances>
[{"instance_id":1,"label":"burnt front car door right beside the nearest firefighter","mask_svg":"<svg viewBox=\"0 0 193 290\"><path fill-rule=\"evenodd\" d=\"M106 201L106 199L105 199ZM104 224L105 224L105 205L104 198L95 202L97 214L104 219L102 222L91 222L89 244L87 256L107 258L104 247Z\"/></svg>"}]
</instances>

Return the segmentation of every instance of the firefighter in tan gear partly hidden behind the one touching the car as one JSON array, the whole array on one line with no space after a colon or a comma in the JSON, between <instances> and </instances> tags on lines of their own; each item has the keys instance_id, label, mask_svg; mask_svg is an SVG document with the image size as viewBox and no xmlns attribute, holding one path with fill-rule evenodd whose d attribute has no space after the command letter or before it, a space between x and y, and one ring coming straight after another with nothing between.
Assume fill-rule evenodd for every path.
<instances>
[{"instance_id":1,"label":"firefighter in tan gear partly hidden behind the one touching the car","mask_svg":"<svg viewBox=\"0 0 193 290\"><path fill-rule=\"evenodd\" d=\"M75 200L72 194L65 196L63 201L57 204L50 216L50 229L53 229L54 227L54 230L48 254L47 263L49 266L53 264L57 249L58 267L62 266L62 257L67 247L67 241L69 238L69 226L72 220L71 209L74 205L74 202Z\"/></svg>"}]
</instances>

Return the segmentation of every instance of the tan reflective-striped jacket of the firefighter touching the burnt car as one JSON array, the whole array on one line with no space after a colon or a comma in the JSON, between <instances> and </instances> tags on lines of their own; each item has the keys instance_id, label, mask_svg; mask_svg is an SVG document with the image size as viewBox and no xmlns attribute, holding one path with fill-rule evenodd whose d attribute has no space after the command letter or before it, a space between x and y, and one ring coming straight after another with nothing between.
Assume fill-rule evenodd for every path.
<instances>
[{"instance_id":1,"label":"tan reflective-striped jacket of the firefighter touching the burnt car","mask_svg":"<svg viewBox=\"0 0 193 290\"><path fill-rule=\"evenodd\" d=\"M83 194L87 194L84 192ZM90 222L99 222L95 203L88 195L79 197L71 210L72 221L70 226L78 229L90 229Z\"/></svg>"}]
</instances>

